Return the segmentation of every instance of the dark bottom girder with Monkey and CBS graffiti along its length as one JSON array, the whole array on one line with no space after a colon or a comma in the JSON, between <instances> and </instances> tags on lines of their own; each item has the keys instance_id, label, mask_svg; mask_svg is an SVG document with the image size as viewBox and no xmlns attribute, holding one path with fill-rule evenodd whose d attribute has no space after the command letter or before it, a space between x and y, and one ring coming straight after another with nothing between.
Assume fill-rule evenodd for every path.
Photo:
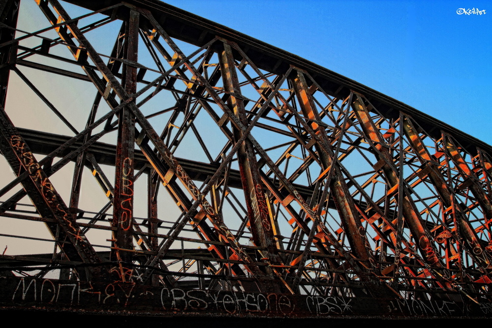
<instances>
[{"instance_id":1,"label":"dark bottom girder with Monkey and CBS graffiti along its length","mask_svg":"<svg viewBox=\"0 0 492 328\"><path fill-rule=\"evenodd\" d=\"M135 283L91 283L53 279L0 279L0 306L126 311L153 314L212 314L217 316L484 316L490 303L451 300L381 299L322 295L224 292L152 287Z\"/></svg>"}]
</instances>

